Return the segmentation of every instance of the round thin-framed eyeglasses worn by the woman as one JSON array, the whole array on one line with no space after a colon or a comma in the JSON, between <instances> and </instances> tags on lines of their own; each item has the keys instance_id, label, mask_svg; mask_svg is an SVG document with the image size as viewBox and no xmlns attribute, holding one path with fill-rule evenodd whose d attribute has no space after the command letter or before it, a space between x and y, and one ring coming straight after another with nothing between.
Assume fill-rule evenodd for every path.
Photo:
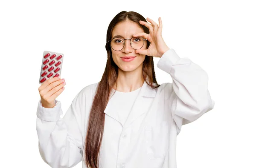
<instances>
[{"instance_id":1,"label":"round thin-framed eyeglasses worn by the woman","mask_svg":"<svg viewBox=\"0 0 256 168\"><path fill-rule=\"evenodd\" d=\"M132 37L131 39L122 39L122 38L113 38L112 40L108 40L110 46L115 51L120 51L125 46L125 40L130 40L131 48L134 50L140 49L144 46L144 41L147 39L143 39L143 37Z\"/></svg>"}]
</instances>

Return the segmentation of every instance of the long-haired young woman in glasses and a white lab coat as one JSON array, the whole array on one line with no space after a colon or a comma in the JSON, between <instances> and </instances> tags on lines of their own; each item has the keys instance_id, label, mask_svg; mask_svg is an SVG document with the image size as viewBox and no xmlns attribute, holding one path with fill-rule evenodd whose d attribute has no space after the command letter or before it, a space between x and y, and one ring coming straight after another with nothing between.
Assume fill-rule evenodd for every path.
<instances>
[{"instance_id":1,"label":"long-haired young woman in glasses and a white lab coat","mask_svg":"<svg viewBox=\"0 0 256 168\"><path fill-rule=\"evenodd\" d=\"M147 23L150 22L151 24ZM39 151L52 168L176 168L181 126L214 107L207 73L180 58L162 38L162 20L122 11L111 21L102 79L84 87L66 114L55 100L65 82L54 77L39 88ZM157 67L173 83L157 84Z\"/></svg>"}]
</instances>

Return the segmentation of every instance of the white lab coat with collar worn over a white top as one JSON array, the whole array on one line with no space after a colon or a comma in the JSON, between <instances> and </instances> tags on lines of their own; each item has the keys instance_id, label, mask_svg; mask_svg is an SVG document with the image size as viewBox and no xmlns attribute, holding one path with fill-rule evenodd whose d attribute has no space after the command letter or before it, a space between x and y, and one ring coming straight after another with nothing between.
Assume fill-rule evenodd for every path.
<instances>
[{"instance_id":1,"label":"white lab coat with collar worn over a white top","mask_svg":"<svg viewBox=\"0 0 256 168\"><path fill-rule=\"evenodd\" d=\"M99 168L176 168L176 138L181 126L214 107L207 73L171 48L157 63L173 83L152 89L144 82L124 127L115 107L105 108ZM98 83L84 87L63 119L61 102L44 108L38 102L39 151L52 168L71 168L82 160L87 121ZM83 168L87 168L83 163Z\"/></svg>"}]
</instances>

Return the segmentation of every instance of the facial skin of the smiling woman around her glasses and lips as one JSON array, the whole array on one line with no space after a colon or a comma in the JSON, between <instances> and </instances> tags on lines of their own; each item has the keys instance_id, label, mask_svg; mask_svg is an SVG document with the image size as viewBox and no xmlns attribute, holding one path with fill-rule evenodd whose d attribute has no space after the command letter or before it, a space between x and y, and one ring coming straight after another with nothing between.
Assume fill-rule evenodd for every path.
<instances>
[{"instance_id":1,"label":"facial skin of the smiling woman around her glasses and lips","mask_svg":"<svg viewBox=\"0 0 256 168\"><path fill-rule=\"evenodd\" d=\"M122 71L134 71L138 68L142 69L143 61L145 60L145 55L141 55L139 53L135 53L135 50L130 45L130 40L124 40L124 39L131 39L133 34L144 32L143 29L134 22L131 21L125 21L122 23L118 23L112 31L112 38L115 38L115 36L122 36L119 37L119 39L122 39L122 41L125 42L124 48L120 51L115 51L113 48L111 48L112 51L112 57L114 63L119 67L119 70ZM120 41L118 41L119 43ZM144 45L141 49L146 49L147 43L144 41ZM125 59L122 59L121 57L135 57L132 61L127 61Z\"/></svg>"}]
</instances>

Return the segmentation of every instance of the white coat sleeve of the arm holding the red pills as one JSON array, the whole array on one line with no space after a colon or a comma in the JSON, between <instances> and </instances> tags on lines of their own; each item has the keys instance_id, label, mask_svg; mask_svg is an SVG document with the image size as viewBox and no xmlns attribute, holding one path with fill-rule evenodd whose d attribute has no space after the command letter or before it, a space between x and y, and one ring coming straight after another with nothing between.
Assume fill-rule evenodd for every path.
<instances>
[{"instance_id":1,"label":"white coat sleeve of the arm holding the red pills","mask_svg":"<svg viewBox=\"0 0 256 168\"><path fill-rule=\"evenodd\" d=\"M53 108L44 108L41 100L38 102L36 130L39 152L52 168L71 168L82 160L81 101L80 92L62 119L60 101L55 100Z\"/></svg>"}]
</instances>

